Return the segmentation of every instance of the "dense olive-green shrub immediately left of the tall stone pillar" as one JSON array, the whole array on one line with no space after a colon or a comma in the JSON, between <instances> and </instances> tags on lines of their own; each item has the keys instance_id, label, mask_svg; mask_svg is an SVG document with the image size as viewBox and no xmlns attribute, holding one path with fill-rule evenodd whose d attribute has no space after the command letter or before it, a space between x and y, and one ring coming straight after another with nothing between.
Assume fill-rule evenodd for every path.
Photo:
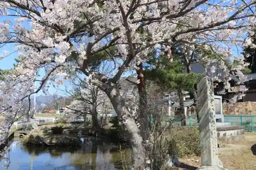
<instances>
[{"instance_id":1,"label":"dense olive-green shrub immediately left of the tall stone pillar","mask_svg":"<svg viewBox=\"0 0 256 170\"><path fill-rule=\"evenodd\" d=\"M200 133L198 127L177 127L170 131L168 138L172 150L179 157L200 155Z\"/></svg>"}]
</instances>

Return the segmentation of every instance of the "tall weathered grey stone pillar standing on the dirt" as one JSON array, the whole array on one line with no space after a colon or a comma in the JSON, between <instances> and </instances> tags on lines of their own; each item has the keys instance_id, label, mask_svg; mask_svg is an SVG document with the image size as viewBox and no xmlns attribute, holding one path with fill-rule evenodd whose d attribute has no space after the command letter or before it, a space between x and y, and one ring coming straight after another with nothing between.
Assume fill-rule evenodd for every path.
<instances>
[{"instance_id":1,"label":"tall weathered grey stone pillar standing on the dirt","mask_svg":"<svg viewBox=\"0 0 256 170\"><path fill-rule=\"evenodd\" d=\"M201 167L199 169L224 169L218 156L215 117L214 84L205 76L197 84Z\"/></svg>"}]
</instances>

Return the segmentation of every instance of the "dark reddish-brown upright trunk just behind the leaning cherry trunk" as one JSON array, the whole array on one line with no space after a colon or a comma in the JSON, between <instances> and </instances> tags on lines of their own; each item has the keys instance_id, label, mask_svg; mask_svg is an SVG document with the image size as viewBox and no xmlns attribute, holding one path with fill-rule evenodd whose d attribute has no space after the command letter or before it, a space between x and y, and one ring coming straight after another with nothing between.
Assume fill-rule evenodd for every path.
<instances>
[{"instance_id":1,"label":"dark reddish-brown upright trunk just behind the leaning cherry trunk","mask_svg":"<svg viewBox=\"0 0 256 170\"><path fill-rule=\"evenodd\" d=\"M140 83L137 85L139 93L139 124L140 133L143 140L148 138L148 132L150 127L149 115L147 115L147 99L146 99L146 82L143 74L142 63L139 64L139 69L137 70L137 79Z\"/></svg>"}]
</instances>

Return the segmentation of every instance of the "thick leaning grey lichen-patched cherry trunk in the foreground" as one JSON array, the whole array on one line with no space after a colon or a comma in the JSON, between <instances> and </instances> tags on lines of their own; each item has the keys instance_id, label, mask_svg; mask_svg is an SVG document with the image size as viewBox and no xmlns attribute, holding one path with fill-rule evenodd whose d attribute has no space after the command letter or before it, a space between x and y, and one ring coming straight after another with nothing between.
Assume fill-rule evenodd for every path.
<instances>
[{"instance_id":1,"label":"thick leaning grey lichen-patched cherry trunk in the foreground","mask_svg":"<svg viewBox=\"0 0 256 170\"><path fill-rule=\"evenodd\" d=\"M145 149L143 147L143 139L134 118L130 114L129 110L127 110L125 102L121 96L118 95L117 91L118 89L116 88L109 88L106 90L106 94L108 94L117 115L122 117L127 138L130 140L130 144L132 145L133 149L133 168L140 170L143 169L145 163Z\"/></svg>"}]
</instances>

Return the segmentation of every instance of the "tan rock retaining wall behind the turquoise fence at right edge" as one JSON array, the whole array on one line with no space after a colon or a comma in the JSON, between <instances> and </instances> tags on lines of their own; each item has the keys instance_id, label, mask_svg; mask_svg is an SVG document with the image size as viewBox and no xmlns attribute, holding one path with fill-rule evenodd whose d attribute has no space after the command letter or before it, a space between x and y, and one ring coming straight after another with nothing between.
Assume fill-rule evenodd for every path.
<instances>
[{"instance_id":1,"label":"tan rock retaining wall behind the turquoise fence at right edge","mask_svg":"<svg viewBox=\"0 0 256 170\"><path fill-rule=\"evenodd\" d=\"M256 115L255 102L223 103L225 115Z\"/></svg>"}]
</instances>

